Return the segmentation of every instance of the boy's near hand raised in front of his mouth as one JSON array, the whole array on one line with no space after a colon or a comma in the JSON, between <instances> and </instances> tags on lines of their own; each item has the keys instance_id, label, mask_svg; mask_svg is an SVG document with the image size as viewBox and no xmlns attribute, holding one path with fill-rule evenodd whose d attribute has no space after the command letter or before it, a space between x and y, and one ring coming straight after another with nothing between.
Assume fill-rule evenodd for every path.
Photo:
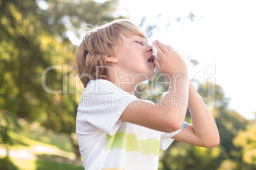
<instances>
[{"instance_id":1,"label":"boy's near hand raised in front of his mouth","mask_svg":"<svg viewBox=\"0 0 256 170\"><path fill-rule=\"evenodd\" d=\"M171 46L166 46L159 41L154 41L153 43L158 49L157 56L159 60L155 58L154 63L160 74L167 74L170 77L177 74L188 74L185 62L183 62L180 55L178 55Z\"/></svg>"}]
</instances>

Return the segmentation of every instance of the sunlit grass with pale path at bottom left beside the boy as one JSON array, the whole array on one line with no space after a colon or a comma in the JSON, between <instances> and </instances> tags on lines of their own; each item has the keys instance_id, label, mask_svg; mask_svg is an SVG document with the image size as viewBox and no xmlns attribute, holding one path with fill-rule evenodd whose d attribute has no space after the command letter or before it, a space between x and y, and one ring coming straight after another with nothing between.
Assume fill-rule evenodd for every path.
<instances>
[{"instance_id":1,"label":"sunlit grass with pale path at bottom left beside the boy","mask_svg":"<svg viewBox=\"0 0 256 170\"><path fill-rule=\"evenodd\" d=\"M20 131L11 131L10 137L13 141L10 157L0 155L0 169L84 169L81 162L75 163L73 147L65 134L45 132L43 127L32 124Z\"/></svg>"}]
</instances>

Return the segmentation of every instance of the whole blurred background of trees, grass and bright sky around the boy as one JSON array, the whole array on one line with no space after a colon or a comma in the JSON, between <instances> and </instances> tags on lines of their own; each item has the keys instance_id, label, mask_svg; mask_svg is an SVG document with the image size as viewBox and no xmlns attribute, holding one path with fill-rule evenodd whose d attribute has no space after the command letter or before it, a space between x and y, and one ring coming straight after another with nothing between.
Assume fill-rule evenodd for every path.
<instances>
[{"instance_id":1,"label":"whole blurred background of trees, grass and bright sky around the boy","mask_svg":"<svg viewBox=\"0 0 256 170\"><path fill-rule=\"evenodd\" d=\"M160 151L159 170L256 169L255 4L0 0L0 169L83 169L75 51L87 28L117 18L130 18L149 42L159 39L192 58L190 79L220 132L214 148L174 141ZM157 83L165 81L158 75L135 95L161 98L167 84Z\"/></svg>"}]
</instances>

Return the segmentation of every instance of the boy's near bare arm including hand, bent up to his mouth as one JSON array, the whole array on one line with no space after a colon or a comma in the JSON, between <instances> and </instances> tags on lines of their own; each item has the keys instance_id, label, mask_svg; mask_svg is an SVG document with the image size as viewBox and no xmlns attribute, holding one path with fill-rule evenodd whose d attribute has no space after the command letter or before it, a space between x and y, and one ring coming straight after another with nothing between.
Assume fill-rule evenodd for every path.
<instances>
[{"instance_id":1,"label":"boy's near bare arm including hand, bent up to his mouth","mask_svg":"<svg viewBox=\"0 0 256 170\"><path fill-rule=\"evenodd\" d=\"M157 42L159 52L154 63L161 74L169 75L170 86L167 94L157 104L143 100L132 101L120 117L121 121L131 122L158 131L172 132L183 126L188 104L187 67L181 57L171 48ZM170 106L171 100L180 100L181 105Z\"/></svg>"}]
</instances>

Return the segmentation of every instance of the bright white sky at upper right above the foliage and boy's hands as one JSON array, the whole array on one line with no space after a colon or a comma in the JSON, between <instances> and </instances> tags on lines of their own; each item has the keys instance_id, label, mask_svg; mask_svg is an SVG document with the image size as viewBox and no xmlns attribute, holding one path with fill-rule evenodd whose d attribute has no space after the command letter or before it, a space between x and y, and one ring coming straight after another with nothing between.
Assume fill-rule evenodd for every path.
<instances>
[{"instance_id":1,"label":"bright white sky at upper right above the foliage and boy's hands","mask_svg":"<svg viewBox=\"0 0 256 170\"><path fill-rule=\"evenodd\" d=\"M209 67L211 77L231 98L230 107L246 119L253 119L252 112L256 112L255 6L253 0L120 0L118 13L137 24L144 16L147 23L157 24L160 29L153 32L151 41L159 39L181 55L196 59L200 64L190 67L190 77ZM196 15L193 22L188 18L176 21L179 16L188 16L190 11Z\"/></svg>"}]
</instances>

